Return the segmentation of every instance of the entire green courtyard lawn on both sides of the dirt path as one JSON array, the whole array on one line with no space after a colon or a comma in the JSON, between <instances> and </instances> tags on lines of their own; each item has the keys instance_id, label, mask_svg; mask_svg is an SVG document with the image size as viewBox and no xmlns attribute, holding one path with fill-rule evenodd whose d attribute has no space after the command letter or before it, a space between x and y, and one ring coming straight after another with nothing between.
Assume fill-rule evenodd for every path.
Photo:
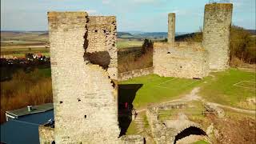
<instances>
[{"instance_id":1,"label":"entire green courtyard lawn on both sides of the dirt path","mask_svg":"<svg viewBox=\"0 0 256 144\"><path fill-rule=\"evenodd\" d=\"M211 73L202 80L159 77L156 74L133 78L124 84L142 85L136 92L133 105L142 108L150 103L176 99L194 87L200 87L198 95L208 102L255 110L255 73L231 68Z\"/></svg>"}]
</instances>

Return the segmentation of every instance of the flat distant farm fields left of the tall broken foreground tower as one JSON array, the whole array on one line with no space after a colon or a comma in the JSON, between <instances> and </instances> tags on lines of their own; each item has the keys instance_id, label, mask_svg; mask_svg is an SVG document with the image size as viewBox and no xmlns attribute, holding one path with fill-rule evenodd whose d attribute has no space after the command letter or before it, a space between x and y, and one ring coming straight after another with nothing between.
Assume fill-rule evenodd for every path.
<instances>
[{"instance_id":1,"label":"flat distant farm fields left of the tall broken foreground tower","mask_svg":"<svg viewBox=\"0 0 256 144\"><path fill-rule=\"evenodd\" d=\"M1 32L1 55L25 58L26 53L41 53L49 57L46 32Z\"/></svg>"}]
</instances>

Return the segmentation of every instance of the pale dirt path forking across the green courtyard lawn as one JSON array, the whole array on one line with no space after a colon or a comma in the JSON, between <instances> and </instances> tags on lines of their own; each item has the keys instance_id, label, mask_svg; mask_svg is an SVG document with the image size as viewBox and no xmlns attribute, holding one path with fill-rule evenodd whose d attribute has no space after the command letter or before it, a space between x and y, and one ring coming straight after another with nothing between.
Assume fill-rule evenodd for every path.
<instances>
[{"instance_id":1,"label":"pale dirt path forking across the green courtyard lawn","mask_svg":"<svg viewBox=\"0 0 256 144\"><path fill-rule=\"evenodd\" d=\"M182 98L178 98L178 99L174 99L174 100L170 100L170 101L166 101L166 102L160 102L160 104L164 104L164 103L168 103L168 102L190 102L190 101L194 101L194 100L207 102L205 99L198 96L199 90L200 90L200 87L195 87L193 90L191 90L190 94L186 94ZM233 110L235 112L242 113L242 114L256 114L256 110L244 110L244 109L239 109L239 108L232 107L232 106L226 106L226 105L218 104L218 103L215 103L215 102L210 102L210 103L215 105L215 106L219 106L219 107L222 107L222 108ZM138 113L141 113L143 111L146 111L146 109L140 109L140 110L136 110L136 111Z\"/></svg>"}]
</instances>

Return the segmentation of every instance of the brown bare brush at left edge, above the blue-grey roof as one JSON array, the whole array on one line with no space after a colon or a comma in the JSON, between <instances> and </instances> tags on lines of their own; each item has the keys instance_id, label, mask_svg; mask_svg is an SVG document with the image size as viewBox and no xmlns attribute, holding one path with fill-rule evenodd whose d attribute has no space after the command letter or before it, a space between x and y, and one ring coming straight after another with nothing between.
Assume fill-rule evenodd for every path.
<instances>
[{"instance_id":1,"label":"brown bare brush at left edge, above the blue-grey roof","mask_svg":"<svg viewBox=\"0 0 256 144\"><path fill-rule=\"evenodd\" d=\"M51 78L43 77L39 70L26 74L18 70L10 81L1 82L1 123L6 110L53 102Z\"/></svg>"}]
</instances>

